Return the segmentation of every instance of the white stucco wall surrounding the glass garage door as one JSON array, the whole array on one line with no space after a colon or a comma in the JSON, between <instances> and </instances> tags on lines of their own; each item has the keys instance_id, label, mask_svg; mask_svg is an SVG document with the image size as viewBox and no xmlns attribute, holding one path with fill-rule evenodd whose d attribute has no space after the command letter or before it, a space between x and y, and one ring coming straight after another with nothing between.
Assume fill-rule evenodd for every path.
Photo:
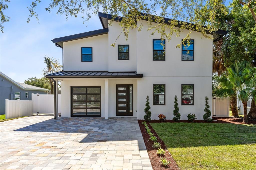
<instances>
[{"instance_id":1,"label":"white stucco wall surrounding the glass garage door","mask_svg":"<svg viewBox=\"0 0 256 170\"><path fill-rule=\"evenodd\" d=\"M71 116L72 86L100 86L101 87L101 117L105 117L105 80L104 79L64 79L61 81L61 117Z\"/></svg>"}]
</instances>

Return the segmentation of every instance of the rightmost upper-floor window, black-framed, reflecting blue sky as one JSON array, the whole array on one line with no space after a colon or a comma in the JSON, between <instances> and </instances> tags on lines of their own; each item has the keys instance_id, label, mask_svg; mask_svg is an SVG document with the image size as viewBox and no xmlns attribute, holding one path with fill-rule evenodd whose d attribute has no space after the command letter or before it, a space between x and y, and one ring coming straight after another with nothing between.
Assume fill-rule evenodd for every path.
<instances>
[{"instance_id":1,"label":"rightmost upper-floor window, black-framed, reflecting blue sky","mask_svg":"<svg viewBox=\"0 0 256 170\"><path fill-rule=\"evenodd\" d=\"M182 61L194 61L194 40L182 43Z\"/></svg>"}]
</instances>

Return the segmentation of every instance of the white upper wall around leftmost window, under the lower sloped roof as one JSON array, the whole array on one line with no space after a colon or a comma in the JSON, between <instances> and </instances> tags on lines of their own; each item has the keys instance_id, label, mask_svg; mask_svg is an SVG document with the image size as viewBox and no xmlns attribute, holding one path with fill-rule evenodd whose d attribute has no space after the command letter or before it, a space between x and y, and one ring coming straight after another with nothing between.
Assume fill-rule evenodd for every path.
<instances>
[{"instance_id":1,"label":"white upper wall around leftmost window, under the lower sloped roof","mask_svg":"<svg viewBox=\"0 0 256 170\"><path fill-rule=\"evenodd\" d=\"M81 47L92 47L92 62L81 62ZM64 71L107 71L108 34L63 43Z\"/></svg>"}]
</instances>

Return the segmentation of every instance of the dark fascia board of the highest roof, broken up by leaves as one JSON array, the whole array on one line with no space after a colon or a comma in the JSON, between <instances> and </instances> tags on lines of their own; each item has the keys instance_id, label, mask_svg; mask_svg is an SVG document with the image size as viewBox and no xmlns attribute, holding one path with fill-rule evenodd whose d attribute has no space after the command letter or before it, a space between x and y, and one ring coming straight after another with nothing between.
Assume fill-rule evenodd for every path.
<instances>
[{"instance_id":1,"label":"dark fascia board of the highest roof, broken up by leaves","mask_svg":"<svg viewBox=\"0 0 256 170\"><path fill-rule=\"evenodd\" d=\"M98 15L99 15L99 18L101 20L101 23L102 23L102 18L108 18L108 20L112 19L112 15L110 15L110 14L104 14L104 13L99 12ZM141 13L141 15L142 16L147 16L148 14ZM147 19L144 19L144 20L147 21ZM164 22L167 23L167 24L169 23L170 20L172 20L172 19L164 18ZM122 17L115 17L114 21L120 22L120 21L122 21ZM179 20L177 20L177 21L178 21L178 27L180 27L182 25L182 21L179 21ZM153 22L155 22L155 21L153 20ZM190 24L189 22L186 22L186 23ZM193 23L192 23L192 25L195 26L195 24L193 24ZM103 26L103 23L102 23L102 26ZM203 26L203 27L205 27L205 26ZM103 26L103 28L104 28L104 26ZM207 33L208 34L213 34L212 32L207 32ZM226 35L227 31L219 29L218 31L215 31L215 33L220 34L220 35Z\"/></svg>"}]
</instances>

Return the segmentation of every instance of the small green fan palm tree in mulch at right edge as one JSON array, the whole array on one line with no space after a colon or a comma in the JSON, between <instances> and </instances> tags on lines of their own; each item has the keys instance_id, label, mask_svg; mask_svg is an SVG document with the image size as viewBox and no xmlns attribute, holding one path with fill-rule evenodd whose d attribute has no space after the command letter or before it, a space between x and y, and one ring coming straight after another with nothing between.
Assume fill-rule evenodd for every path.
<instances>
[{"instance_id":1,"label":"small green fan palm tree in mulch at right edge","mask_svg":"<svg viewBox=\"0 0 256 170\"><path fill-rule=\"evenodd\" d=\"M238 98L242 101L244 108L243 123L247 123L247 101L249 98L256 97L256 90L254 89L256 85L256 67L251 67L249 62L243 61L226 69L228 75L220 79L221 88L218 90L218 94L219 96L232 96L238 92Z\"/></svg>"}]
</instances>

